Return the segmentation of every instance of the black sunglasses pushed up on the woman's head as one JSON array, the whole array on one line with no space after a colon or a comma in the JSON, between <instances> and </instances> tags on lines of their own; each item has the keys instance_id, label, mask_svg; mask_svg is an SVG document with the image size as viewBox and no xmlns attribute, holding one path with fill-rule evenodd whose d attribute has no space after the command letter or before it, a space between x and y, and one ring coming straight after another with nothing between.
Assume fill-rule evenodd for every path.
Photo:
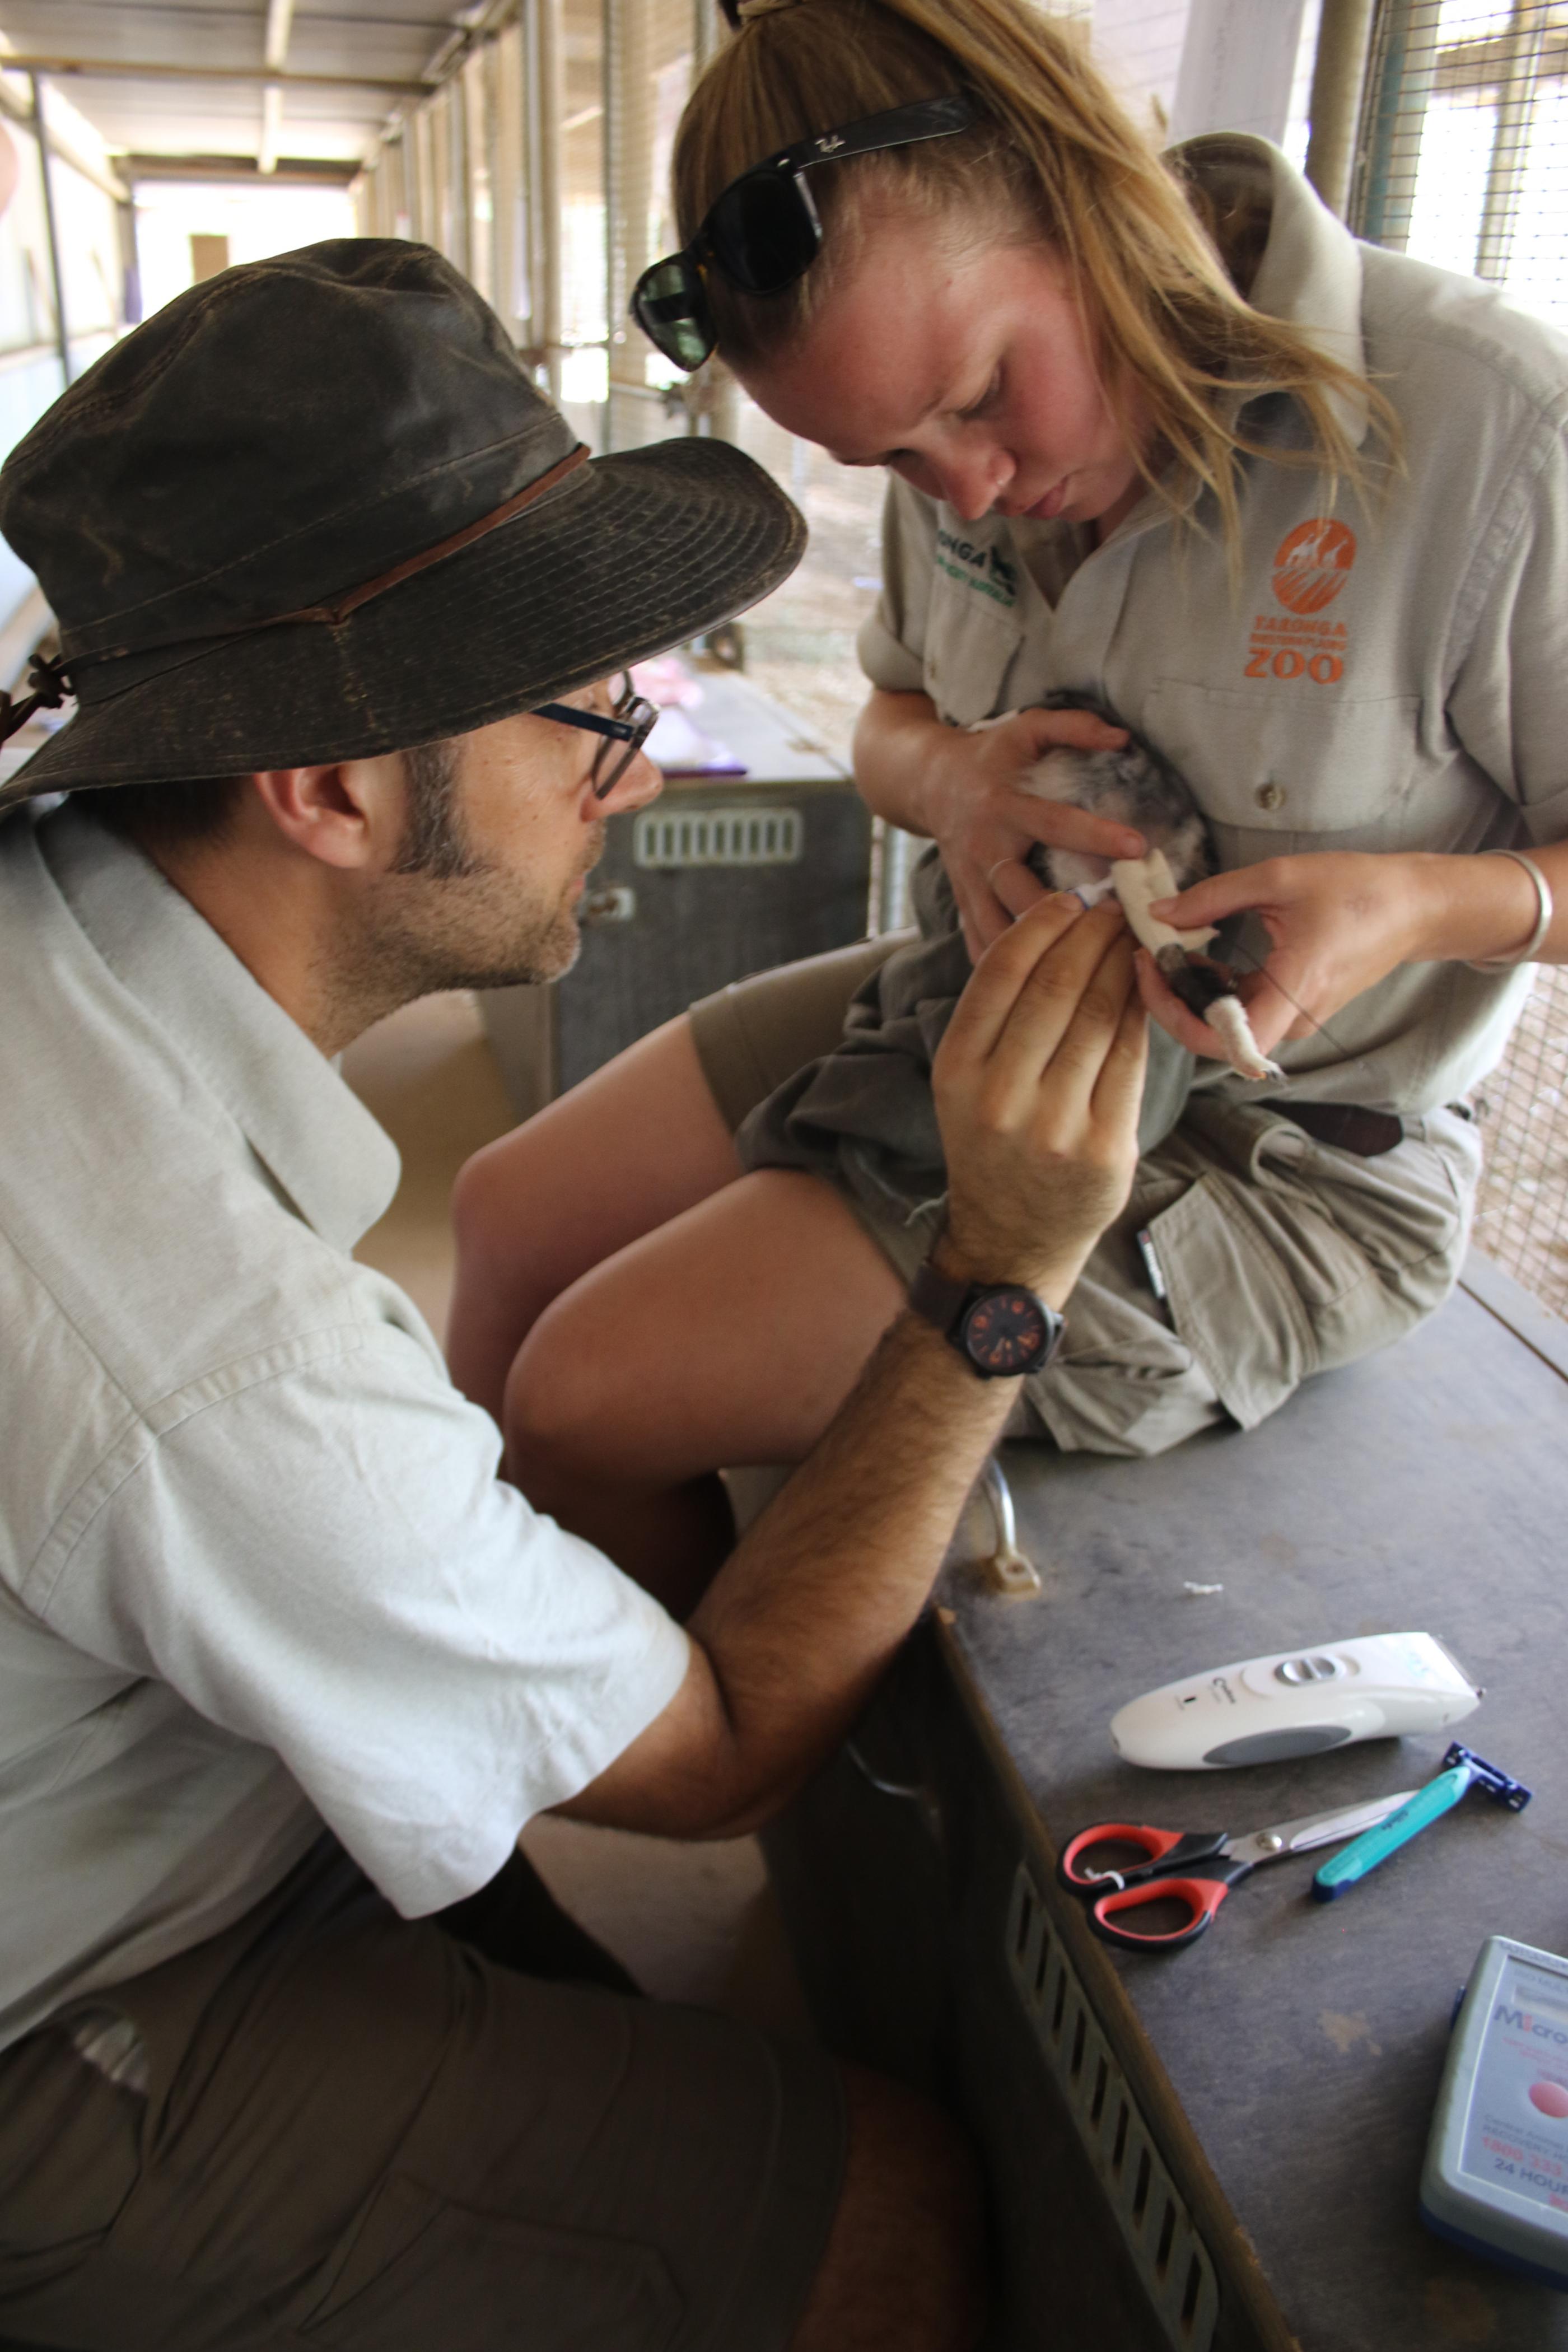
<instances>
[{"instance_id":1,"label":"black sunglasses pushed up on the woman's head","mask_svg":"<svg viewBox=\"0 0 1568 2352\"><path fill-rule=\"evenodd\" d=\"M922 139L952 139L980 120L973 99L922 99L917 106L893 106L865 115L818 139L797 139L715 198L708 219L691 245L665 261L654 261L632 287L632 318L663 350L665 360L693 369L712 353L717 329L703 278L710 263L724 270L743 294L783 294L816 261L823 247L818 219L804 174L818 162L844 162L849 155L877 155L884 148L917 146Z\"/></svg>"}]
</instances>

